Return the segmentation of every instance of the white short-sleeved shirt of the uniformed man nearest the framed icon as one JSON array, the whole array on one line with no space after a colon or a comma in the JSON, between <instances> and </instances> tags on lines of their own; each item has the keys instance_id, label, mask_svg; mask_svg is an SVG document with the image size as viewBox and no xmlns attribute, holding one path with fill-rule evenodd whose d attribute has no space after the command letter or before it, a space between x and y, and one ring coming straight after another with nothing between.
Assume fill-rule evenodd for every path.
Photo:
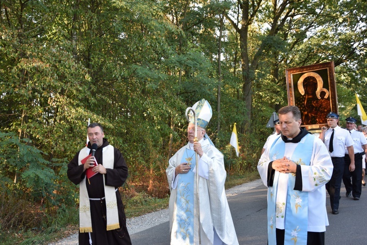
<instances>
[{"instance_id":1,"label":"white short-sleeved shirt of the uniformed man nearest the framed icon","mask_svg":"<svg viewBox=\"0 0 367 245\"><path fill-rule=\"evenodd\" d=\"M329 128L324 136L324 143L327 149L329 149L330 145L330 136L332 131L332 128ZM329 152L331 157L344 157L345 155L345 146L352 146L353 145L353 139L350 136L349 131L346 129L342 129L339 126L336 126L334 128L334 140L333 140L333 147L334 151L332 153Z\"/></svg>"}]
</instances>

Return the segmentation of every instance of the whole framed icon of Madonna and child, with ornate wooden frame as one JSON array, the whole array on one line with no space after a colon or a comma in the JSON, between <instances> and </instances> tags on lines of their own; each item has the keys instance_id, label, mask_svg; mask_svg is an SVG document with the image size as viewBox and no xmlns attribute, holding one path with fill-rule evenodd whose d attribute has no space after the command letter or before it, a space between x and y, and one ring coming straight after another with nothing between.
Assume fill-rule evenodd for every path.
<instances>
[{"instance_id":1,"label":"whole framed icon of Madonna and child, with ornate wooden frame","mask_svg":"<svg viewBox=\"0 0 367 245\"><path fill-rule=\"evenodd\" d=\"M289 68L285 73L288 105L301 111L301 127L321 132L321 127L327 126L326 115L338 113L334 62Z\"/></svg>"}]
</instances>

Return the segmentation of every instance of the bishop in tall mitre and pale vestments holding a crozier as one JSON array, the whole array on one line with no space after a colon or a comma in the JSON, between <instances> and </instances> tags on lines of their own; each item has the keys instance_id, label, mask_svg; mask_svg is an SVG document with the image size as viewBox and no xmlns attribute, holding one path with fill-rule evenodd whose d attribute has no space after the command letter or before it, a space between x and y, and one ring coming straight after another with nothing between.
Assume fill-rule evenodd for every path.
<instances>
[{"instance_id":1,"label":"bishop in tall mitre and pale vestments holding a crozier","mask_svg":"<svg viewBox=\"0 0 367 245\"><path fill-rule=\"evenodd\" d=\"M195 122L192 117L187 127L188 143L169 159L166 169L171 191L171 245L199 244L199 229L202 245L238 245L224 189L227 173L223 155L206 134L206 126L212 116L211 107L202 99L192 109L197 118L198 141L194 141ZM196 188L196 156L199 193ZM198 195L200 210L196 200Z\"/></svg>"}]
</instances>

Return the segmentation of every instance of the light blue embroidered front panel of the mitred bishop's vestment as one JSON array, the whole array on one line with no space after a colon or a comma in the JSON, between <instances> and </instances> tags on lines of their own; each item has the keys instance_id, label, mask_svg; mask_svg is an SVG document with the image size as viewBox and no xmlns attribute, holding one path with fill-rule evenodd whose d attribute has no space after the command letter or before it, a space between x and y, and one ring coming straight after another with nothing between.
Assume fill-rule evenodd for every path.
<instances>
[{"instance_id":1,"label":"light blue embroidered front panel of the mitred bishop's vestment","mask_svg":"<svg viewBox=\"0 0 367 245\"><path fill-rule=\"evenodd\" d=\"M186 174L178 174L178 190L176 200L176 230L177 240L182 244L194 244L194 179L195 152L186 148L181 163L191 163L191 169Z\"/></svg>"}]
</instances>

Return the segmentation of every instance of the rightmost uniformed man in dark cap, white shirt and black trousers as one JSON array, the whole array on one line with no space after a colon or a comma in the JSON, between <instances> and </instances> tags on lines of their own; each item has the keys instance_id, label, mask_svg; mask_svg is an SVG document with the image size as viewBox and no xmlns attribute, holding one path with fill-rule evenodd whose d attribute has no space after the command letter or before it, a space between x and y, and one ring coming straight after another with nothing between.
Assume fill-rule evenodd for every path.
<instances>
[{"instance_id":1,"label":"rightmost uniformed man in dark cap, white shirt and black trousers","mask_svg":"<svg viewBox=\"0 0 367 245\"><path fill-rule=\"evenodd\" d=\"M349 131L353 139L353 149L354 149L354 163L355 170L349 172L348 166L350 163L350 157L348 151L345 149L344 156L344 175L343 183L345 185L345 196L350 197L350 193L353 195L354 200L359 200L362 192L362 158L367 149L367 140L362 132L355 130L357 119L353 117L348 117L346 120L346 129ZM352 177L352 181L350 181Z\"/></svg>"}]
</instances>

